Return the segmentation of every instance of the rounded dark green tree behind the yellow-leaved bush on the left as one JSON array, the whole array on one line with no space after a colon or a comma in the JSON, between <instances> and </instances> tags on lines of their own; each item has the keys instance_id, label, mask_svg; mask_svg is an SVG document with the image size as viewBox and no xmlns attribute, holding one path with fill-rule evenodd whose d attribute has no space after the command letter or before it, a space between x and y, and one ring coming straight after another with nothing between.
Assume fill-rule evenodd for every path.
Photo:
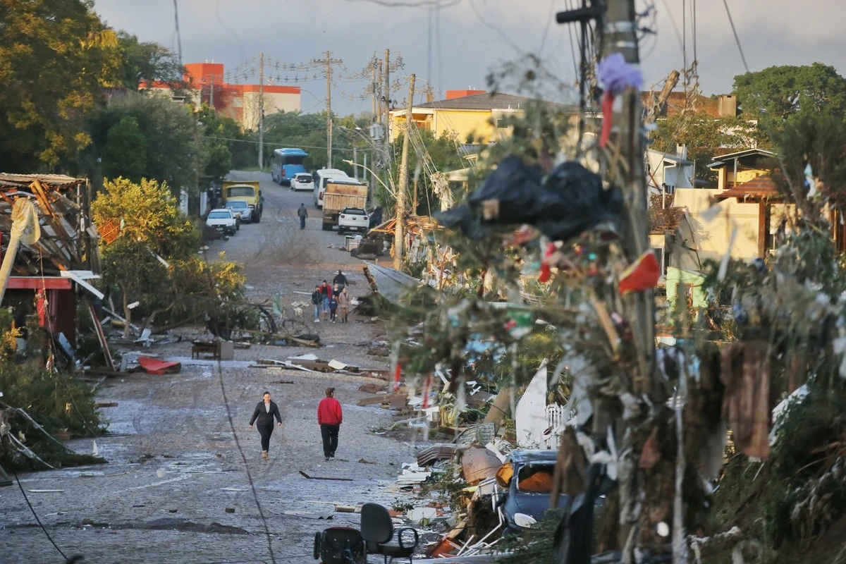
<instances>
[{"instance_id":1,"label":"rounded dark green tree behind the yellow-leaved bush on the left","mask_svg":"<svg viewBox=\"0 0 846 564\"><path fill-rule=\"evenodd\" d=\"M204 166L201 131L190 107L174 104L160 96L130 94L114 100L98 112L91 123L94 139L92 151L102 156L103 170L129 176L137 172L135 161L131 171L123 161L109 159L108 134L125 117L135 119L146 140L146 159L141 176L166 183L175 193L185 189L194 192L199 186Z\"/></svg>"}]
</instances>

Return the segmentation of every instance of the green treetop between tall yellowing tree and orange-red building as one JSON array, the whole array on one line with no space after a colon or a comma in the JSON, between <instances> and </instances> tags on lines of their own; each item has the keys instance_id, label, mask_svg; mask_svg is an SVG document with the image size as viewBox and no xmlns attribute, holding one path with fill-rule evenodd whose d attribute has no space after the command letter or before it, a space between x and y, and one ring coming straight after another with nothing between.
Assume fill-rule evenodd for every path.
<instances>
[{"instance_id":1,"label":"green treetop between tall yellowing tree and orange-red building","mask_svg":"<svg viewBox=\"0 0 846 564\"><path fill-rule=\"evenodd\" d=\"M153 41L118 31L121 54L120 80L130 90L150 88L154 82L165 82L175 89L184 88L185 68L176 53Z\"/></svg>"}]
</instances>

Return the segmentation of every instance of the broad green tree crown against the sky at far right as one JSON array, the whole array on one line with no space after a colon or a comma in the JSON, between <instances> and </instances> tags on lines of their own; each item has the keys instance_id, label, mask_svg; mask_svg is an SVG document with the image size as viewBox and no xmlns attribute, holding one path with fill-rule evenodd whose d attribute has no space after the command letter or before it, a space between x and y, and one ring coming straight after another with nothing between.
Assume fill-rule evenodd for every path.
<instances>
[{"instance_id":1,"label":"broad green tree crown against the sky at far right","mask_svg":"<svg viewBox=\"0 0 846 564\"><path fill-rule=\"evenodd\" d=\"M777 131L799 109L846 110L846 79L823 63L783 65L739 74L734 77L734 90L748 118L760 112L766 124Z\"/></svg>"}]
</instances>

